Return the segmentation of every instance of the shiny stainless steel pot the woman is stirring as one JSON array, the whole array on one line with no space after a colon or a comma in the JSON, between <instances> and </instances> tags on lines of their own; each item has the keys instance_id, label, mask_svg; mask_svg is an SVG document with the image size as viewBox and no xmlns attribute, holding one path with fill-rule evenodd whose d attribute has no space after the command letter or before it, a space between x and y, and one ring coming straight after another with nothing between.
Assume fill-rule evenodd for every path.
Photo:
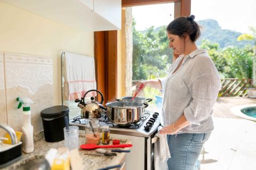
<instances>
[{"instance_id":1,"label":"shiny stainless steel pot the woman is stirring","mask_svg":"<svg viewBox=\"0 0 256 170\"><path fill-rule=\"evenodd\" d=\"M138 122L146 107L142 103L132 101L114 101L107 103L106 106L110 121L118 125Z\"/></svg>"}]
</instances>

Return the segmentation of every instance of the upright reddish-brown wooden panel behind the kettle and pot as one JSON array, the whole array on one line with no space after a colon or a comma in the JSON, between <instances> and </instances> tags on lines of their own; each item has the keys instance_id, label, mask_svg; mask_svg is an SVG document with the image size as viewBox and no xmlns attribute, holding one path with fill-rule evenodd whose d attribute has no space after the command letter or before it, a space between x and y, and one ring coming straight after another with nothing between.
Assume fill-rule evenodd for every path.
<instances>
[{"instance_id":1,"label":"upright reddish-brown wooden panel behind the kettle and pot","mask_svg":"<svg viewBox=\"0 0 256 170\"><path fill-rule=\"evenodd\" d=\"M94 32L94 57L97 89L104 103L114 101L117 89L117 30Z\"/></svg>"}]
</instances>

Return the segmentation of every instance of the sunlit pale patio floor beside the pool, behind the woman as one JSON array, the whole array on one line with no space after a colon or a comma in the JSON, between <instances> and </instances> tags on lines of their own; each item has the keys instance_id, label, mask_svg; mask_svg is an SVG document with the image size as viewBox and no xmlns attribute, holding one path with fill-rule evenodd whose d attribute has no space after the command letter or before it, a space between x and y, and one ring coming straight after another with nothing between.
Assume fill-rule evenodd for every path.
<instances>
[{"instance_id":1,"label":"sunlit pale patio floor beside the pool, behind the woman","mask_svg":"<svg viewBox=\"0 0 256 170\"><path fill-rule=\"evenodd\" d=\"M253 101L256 104L256 99L218 99L214 105L217 112L213 113L215 129L204 145L204 160L202 154L199 157L202 170L256 169L256 122L238 118L229 111L230 107ZM221 110L226 111L225 117L221 117Z\"/></svg>"}]
</instances>

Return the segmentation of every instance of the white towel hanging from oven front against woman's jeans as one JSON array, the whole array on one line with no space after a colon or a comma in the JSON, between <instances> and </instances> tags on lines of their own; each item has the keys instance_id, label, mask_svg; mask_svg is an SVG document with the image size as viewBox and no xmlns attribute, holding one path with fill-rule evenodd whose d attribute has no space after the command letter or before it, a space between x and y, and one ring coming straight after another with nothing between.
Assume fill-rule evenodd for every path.
<instances>
[{"instance_id":1,"label":"white towel hanging from oven front against woman's jeans","mask_svg":"<svg viewBox=\"0 0 256 170\"><path fill-rule=\"evenodd\" d=\"M167 143L167 135L157 133L155 136L158 137L158 140L154 144L155 169L167 169L167 160L171 158Z\"/></svg>"}]
</instances>

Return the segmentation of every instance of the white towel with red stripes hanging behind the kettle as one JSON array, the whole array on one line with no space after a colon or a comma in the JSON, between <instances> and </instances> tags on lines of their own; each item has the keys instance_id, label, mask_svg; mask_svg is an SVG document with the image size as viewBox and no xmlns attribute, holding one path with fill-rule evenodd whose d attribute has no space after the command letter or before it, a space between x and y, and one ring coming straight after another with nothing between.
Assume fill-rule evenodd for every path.
<instances>
[{"instance_id":1,"label":"white towel with red stripes hanging behind the kettle","mask_svg":"<svg viewBox=\"0 0 256 170\"><path fill-rule=\"evenodd\" d=\"M66 100L81 99L86 91L96 89L94 58L73 53L62 53L64 73L64 97ZM86 97L96 96L92 91Z\"/></svg>"}]
</instances>

